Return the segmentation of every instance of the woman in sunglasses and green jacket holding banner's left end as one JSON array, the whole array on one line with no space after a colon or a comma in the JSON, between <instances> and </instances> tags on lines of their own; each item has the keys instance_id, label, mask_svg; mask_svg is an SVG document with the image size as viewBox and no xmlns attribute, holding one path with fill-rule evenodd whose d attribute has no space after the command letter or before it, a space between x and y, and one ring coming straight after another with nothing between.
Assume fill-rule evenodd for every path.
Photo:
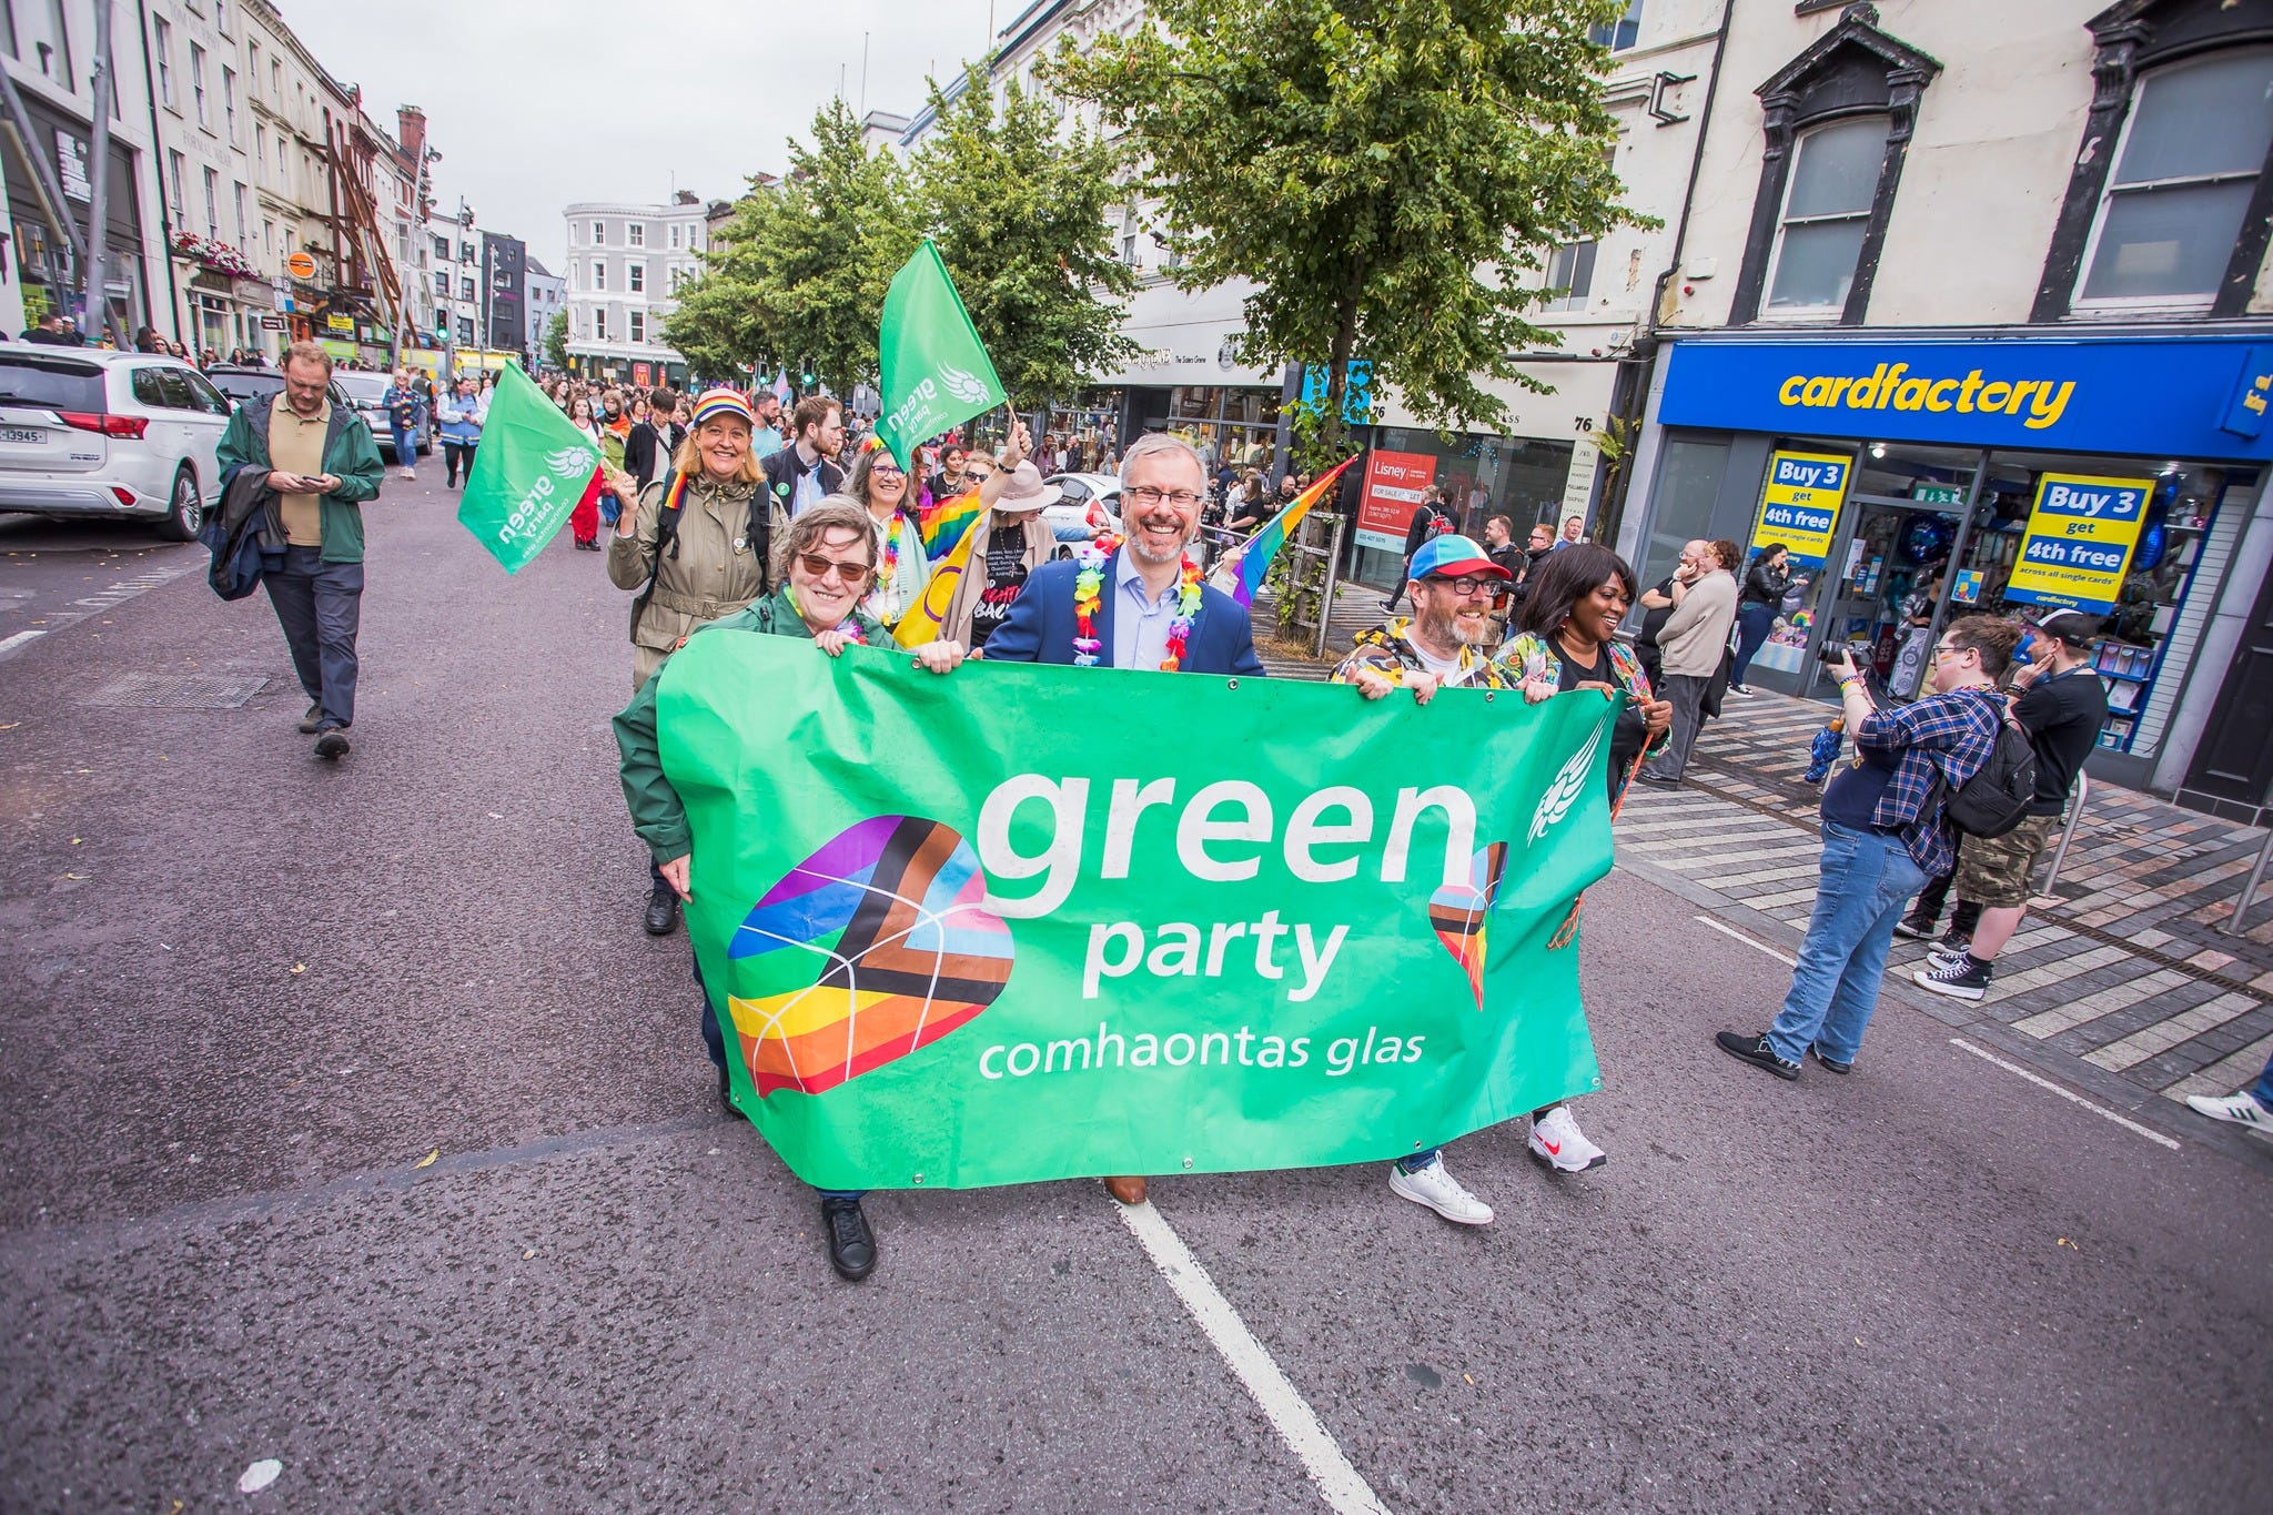
<instances>
[{"instance_id":1,"label":"woman in sunglasses and green jacket holding banner's left end","mask_svg":"<svg viewBox=\"0 0 2273 1515\"><path fill-rule=\"evenodd\" d=\"M861 609L861 595L868 593L868 581L875 577L875 522L868 511L843 495L830 495L786 522L775 536L780 588L723 620L696 627L696 634L727 627L761 636L798 636L811 641L827 656L841 656L852 643L889 643L884 625ZM932 672L955 672L964 661L964 650L957 643L925 643L916 647L914 656ZM675 897L691 899L693 831L686 825L680 793L664 775L655 725L655 686L657 679L648 679L632 704L616 715L623 797L632 806L632 825L648 843L648 852L655 854L657 874L671 881ZM702 981L700 963L696 963L696 981ZM718 1029L718 1013L707 986L702 993L702 1047L718 1070L718 1104L732 1111L734 1083L727 1074L725 1036ZM821 1236L827 1242L830 1267L841 1277L859 1281L875 1272L875 1233L861 1211L859 1190L821 1190Z\"/></svg>"}]
</instances>

